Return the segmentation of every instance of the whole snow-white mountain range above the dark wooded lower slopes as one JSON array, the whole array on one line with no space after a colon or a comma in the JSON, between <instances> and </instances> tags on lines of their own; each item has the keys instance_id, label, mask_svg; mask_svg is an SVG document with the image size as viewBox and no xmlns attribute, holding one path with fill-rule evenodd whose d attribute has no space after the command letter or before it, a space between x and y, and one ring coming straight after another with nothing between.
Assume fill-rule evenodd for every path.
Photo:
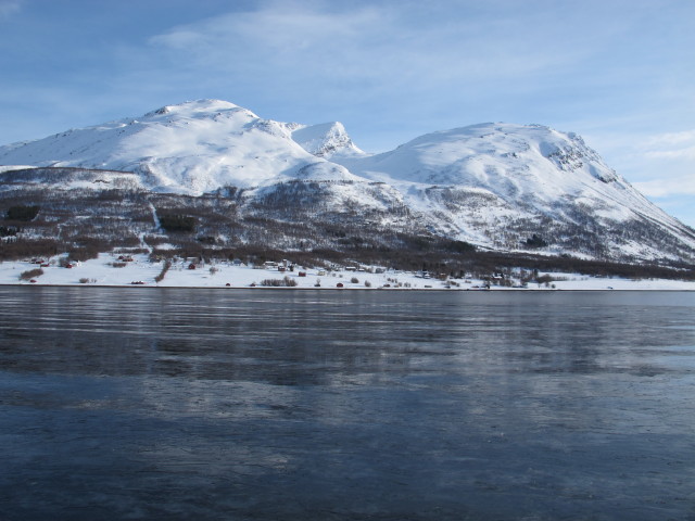
<instances>
[{"instance_id":1,"label":"whole snow-white mountain range above the dark wooded lower slopes","mask_svg":"<svg viewBox=\"0 0 695 521\"><path fill-rule=\"evenodd\" d=\"M0 147L0 165L134 173L143 190L188 195L233 187L253 215L277 204L279 213L308 212L304 220L317 208L380 216L383 226L500 250L518 250L538 234L557 254L657 258L670 249L686 258L695 251L693 231L581 137L544 125L471 125L370 155L341 123L281 123L203 99Z\"/></svg>"}]
</instances>

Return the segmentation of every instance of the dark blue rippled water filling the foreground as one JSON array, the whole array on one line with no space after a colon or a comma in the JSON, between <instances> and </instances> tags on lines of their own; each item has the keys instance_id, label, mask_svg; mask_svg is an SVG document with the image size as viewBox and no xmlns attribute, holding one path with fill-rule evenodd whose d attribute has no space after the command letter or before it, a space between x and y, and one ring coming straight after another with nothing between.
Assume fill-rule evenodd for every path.
<instances>
[{"instance_id":1,"label":"dark blue rippled water filling the foreground","mask_svg":"<svg viewBox=\"0 0 695 521\"><path fill-rule=\"evenodd\" d=\"M0 288L0 520L695 519L695 294Z\"/></svg>"}]
</instances>

